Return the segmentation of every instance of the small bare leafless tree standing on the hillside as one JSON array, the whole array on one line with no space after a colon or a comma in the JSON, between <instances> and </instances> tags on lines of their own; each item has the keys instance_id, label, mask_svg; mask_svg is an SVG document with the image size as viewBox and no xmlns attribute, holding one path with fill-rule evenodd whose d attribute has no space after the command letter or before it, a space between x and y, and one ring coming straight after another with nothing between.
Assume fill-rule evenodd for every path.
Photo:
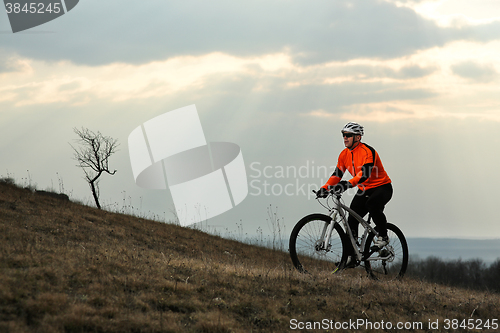
<instances>
[{"instance_id":1,"label":"small bare leafless tree standing on the hillside","mask_svg":"<svg viewBox=\"0 0 500 333\"><path fill-rule=\"evenodd\" d=\"M109 157L116 152L118 140L83 127L81 130L77 128L73 130L78 135L79 138L76 141L80 144L78 149L70 144L75 152L74 158L85 173L85 179L90 185L97 208L101 209L98 179L103 173L110 175L116 173L116 170L109 171Z\"/></svg>"}]
</instances>

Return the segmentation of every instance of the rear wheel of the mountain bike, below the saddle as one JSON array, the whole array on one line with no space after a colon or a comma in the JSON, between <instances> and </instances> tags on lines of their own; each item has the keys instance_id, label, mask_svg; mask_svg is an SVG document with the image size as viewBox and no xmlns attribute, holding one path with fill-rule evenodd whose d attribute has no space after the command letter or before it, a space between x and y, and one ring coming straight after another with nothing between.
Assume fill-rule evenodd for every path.
<instances>
[{"instance_id":1,"label":"rear wheel of the mountain bike, below the saddle","mask_svg":"<svg viewBox=\"0 0 500 333\"><path fill-rule=\"evenodd\" d=\"M387 235L389 236L389 244L380 251L374 252L373 255L388 256L392 251L393 256L390 260L365 260L364 265L368 275L381 281L391 281L402 279L408 267L408 244L403 232L394 224L387 223ZM364 258L370 256L371 247L375 234L371 233L366 239Z\"/></svg>"}]
</instances>

